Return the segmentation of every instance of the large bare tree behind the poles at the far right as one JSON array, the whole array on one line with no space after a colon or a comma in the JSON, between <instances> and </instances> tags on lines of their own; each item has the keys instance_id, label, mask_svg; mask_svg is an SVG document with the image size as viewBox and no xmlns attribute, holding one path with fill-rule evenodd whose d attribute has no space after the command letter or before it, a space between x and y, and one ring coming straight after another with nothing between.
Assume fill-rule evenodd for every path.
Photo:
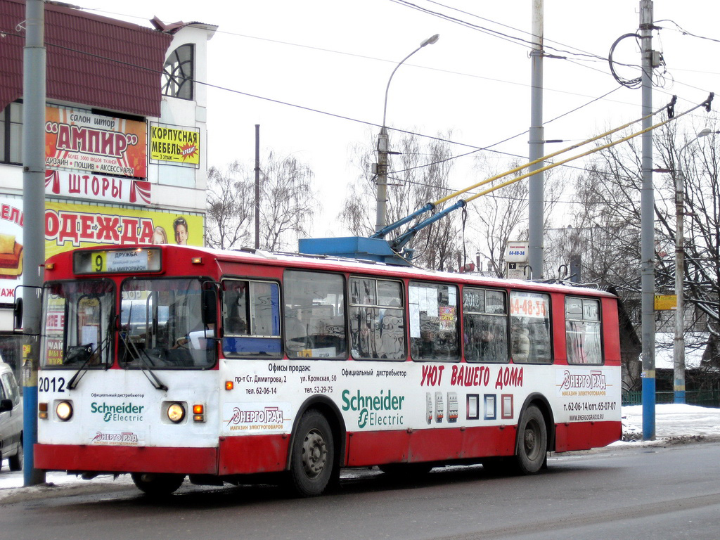
<instances>
[{"instance_id":1,"label":"large bare tree behind the poles at the far right","mask_svg":"<svg viewBox=\"0 0 720 540\"><path fill-rule=\"evenodd\" d=\"M685 146L688 139L677 129L670 124L653 134L653 161L665 171L654 176L655 287L660 293L675 292L675 182L682 168L686 194L685 330L706 336L704 340L693 338L688 350L700 348L704 351L703 369L716 369L720 353L720 140L712 135ZM575 181L579 204L572 213L572 230L565 234L564 257L567 260L572 252L582 253L582 281L613 287L637 329L641 297L639 143L632 140L595 156L588 171ZM656 321L659 332L671 333L674 312L657 312ZM657 341L658 350L664 346L667 343ZM703 387L711 381L717 378L700 377L695 384Z\"/></svg>"}]
</instances>

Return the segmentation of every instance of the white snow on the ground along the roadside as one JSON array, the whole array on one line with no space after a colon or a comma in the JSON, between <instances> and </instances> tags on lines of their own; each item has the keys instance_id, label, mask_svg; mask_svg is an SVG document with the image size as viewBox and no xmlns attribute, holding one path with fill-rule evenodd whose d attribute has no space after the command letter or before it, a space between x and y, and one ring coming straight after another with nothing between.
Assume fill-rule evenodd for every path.
<instances>
[{"instance_id":1,"label":"white snow on the ground along the roadside","mask_svg":"<svg viewBox=\"0 0 720 540\"><path fill-rule=\"evenodd\" d=\"M611 444L618 446L635 446L642 444L658 444L663 441L691 441L701 438L720 440L720 409L697 407L696 405L662 404L655 406L655 441L642 441L642 405L631 405L622 408L623 441ZM45 479L56 487L77 487L78 483L91 484L87 480L65 474L48 472ZM132 485L130 476L125 474L117 480L112 477L99 477L96 482L112 482L114 485ZM4 498L19 492L23 485L21 472L10 472L7 460L3 460L0 469L0 503ZM42 490L46 487L28 487L27 490Z\"/></svg>"}]
</instances>

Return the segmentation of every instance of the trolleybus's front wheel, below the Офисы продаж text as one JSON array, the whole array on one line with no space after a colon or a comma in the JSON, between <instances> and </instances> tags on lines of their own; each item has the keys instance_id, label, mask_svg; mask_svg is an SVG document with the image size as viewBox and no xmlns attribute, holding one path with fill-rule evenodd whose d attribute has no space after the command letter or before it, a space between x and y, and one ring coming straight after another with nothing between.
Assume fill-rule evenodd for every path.
<instances>
[{"instance_id":1,"label":"trolleybus's front wheel, below the \u041e\u0444\u0438\u0441\u044b \u043f\u0440\u043e\u0434\u0430\u0436 text","mask_svg":"<svg viewBox=\"0 0 720 540\"><path fill-rule=\"evenodd\" d=\"M292 441L290 481L301 497L317 497L330 484L335 465L335 441L330 424L318 410L308 410ZM339 476L339 474L338 474Z\"/></svg>"}]
</instances>

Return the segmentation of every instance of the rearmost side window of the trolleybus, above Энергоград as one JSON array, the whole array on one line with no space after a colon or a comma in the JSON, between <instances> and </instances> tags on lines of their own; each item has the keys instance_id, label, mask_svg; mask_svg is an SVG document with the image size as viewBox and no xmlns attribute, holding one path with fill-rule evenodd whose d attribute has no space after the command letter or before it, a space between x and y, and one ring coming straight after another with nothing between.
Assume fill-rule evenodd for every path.
<instances>
[{"instance_id":1,"label":"rearmost side window of the trolleybus, above \u042d\u043d\u0435\u0440\u0433\u043e\u0433\u0440\u0430\u0434","mask_svg":"<svg viewBox=\"0 0 720 540\"><path fill-rule=\"evenodd\" d=\"M568 364L602 364L600 301L590 298L565 299L565 341Z\"/></svg>"}]
</instances>

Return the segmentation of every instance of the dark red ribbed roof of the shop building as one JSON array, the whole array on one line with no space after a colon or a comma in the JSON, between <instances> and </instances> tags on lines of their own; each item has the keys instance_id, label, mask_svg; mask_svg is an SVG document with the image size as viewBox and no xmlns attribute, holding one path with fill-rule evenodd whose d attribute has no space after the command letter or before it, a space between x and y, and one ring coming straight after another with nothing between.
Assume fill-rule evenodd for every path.
<instances>
[{"instance_id":1,"label":"dark red ribbed roof of the shop building","mask_svg":"<svg viewBox=\"0 0 720 540\"><path fill-rule=\"evenodd\" d=\"M0 0L0 108L22 97L24 19L24 0ZM171 40L167 32L45 4L47 97L159 117Z\"/></svg>"}]
</instances>

